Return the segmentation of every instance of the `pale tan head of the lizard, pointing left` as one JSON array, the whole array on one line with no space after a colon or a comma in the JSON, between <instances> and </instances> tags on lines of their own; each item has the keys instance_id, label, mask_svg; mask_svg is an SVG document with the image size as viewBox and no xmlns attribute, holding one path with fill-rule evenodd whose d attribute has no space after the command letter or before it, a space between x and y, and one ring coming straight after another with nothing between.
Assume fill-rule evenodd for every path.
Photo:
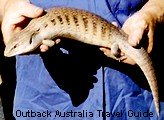
<instances>
[{"instance_id":1,"label":"pale tan head of the lizard, pointing left","mask_svg":"<svg viewBox=\"0 0 164 120\"><path fill-rule=\"evenodd\" d=\"M12 57L35 50L42 40L38 32L33 30L22 29L20 32L13 34L9 42L6 44L4 55Z\"/></svg>"}]
</instances>

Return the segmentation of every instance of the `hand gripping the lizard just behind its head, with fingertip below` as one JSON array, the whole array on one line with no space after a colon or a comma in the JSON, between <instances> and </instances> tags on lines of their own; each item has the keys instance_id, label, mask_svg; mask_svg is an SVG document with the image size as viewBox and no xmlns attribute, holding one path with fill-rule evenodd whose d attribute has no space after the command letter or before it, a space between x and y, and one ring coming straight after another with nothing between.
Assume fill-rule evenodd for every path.
<instances>
[{"instance_id":1,"label":"hand gripping the lizard just behind its head, with fingertip below","mask_svg":"<svg viewBox=\"0 0 164 120\"><path fill-rule=\"evenodd\" d=\"M28 24L28 18L39 17L43 13L42 8L32 5L29 0L7 0L3 11L1 29L5 44L8 43L12 34L19 32ZM40 46L41 52L48 50L45 44L43 42Z\"/></svg>"}]
</instances>

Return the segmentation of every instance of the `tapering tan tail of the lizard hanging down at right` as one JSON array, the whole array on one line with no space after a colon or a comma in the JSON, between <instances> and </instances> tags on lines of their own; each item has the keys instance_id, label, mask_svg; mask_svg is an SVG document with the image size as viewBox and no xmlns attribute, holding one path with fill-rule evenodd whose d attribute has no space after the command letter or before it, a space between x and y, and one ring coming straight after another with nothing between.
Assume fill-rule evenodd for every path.
<instances>
[{"instance_id":1,"label":"tapering tan tail of the lizard hanging down at right","mask_svg":"<svg viewBox=\"0 0 164 120\"><path fill-rule=\"evenodd\" d=\"M157 78L155 75L153 63L148 53L143 48L135 49L129 44L119 44L119 48L126 55L132 58L136 62L136 64L140 67L140 69L143 71L148 81L148 84L150 86L150 89L152 91L157 116L159 116L160 106L159 106Z\"/></svg>"}]
</instances>

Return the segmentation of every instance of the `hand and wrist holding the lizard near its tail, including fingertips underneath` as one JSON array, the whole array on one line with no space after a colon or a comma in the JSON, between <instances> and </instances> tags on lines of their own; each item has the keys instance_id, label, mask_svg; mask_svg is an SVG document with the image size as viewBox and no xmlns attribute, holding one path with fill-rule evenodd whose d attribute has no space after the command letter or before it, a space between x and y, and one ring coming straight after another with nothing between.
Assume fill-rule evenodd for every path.
<instances>
[{"instance_id":1,"label":"hand and wrist holding the lizard near its tail, including fingertips underneath","mask_svg":"<svg viewBox=\"0 0 164 120\"><path fill-rule=\"evenodd\" d=\"M163 0L149 0L138 12L129 17L122 29L128 34L128 42L133 46L138 45L144 47L150 54L154 43L154 30L157 23L164 22L164 1ZM147 39L142 39L144 36ZM145 41L147 40L147 41ZM147 43L147 45L141 45ZM101 48L104 54L109 54L109 50ZM134 64L134 62L127 57L122 62Z\"/></svg>"}]
</instances>

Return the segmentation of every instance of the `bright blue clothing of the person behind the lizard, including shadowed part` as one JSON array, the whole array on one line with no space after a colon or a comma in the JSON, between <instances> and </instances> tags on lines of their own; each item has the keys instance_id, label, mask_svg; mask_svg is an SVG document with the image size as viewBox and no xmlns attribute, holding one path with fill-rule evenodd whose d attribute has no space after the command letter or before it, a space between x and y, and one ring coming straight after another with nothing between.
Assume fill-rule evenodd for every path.
<instances>
[{"instance_id":1,"label":"bright blue clothing of the person behind the lizard, including shadowed part","mask_svg":"<svg viewBox=\"0 0 164 120\"><path fill-rule=\"evenodd\" d=\"M67 6L89 10L120 26L144 4L142 0L31 0L31 3L44 9ZM135 78L144 81L141 73L136 72L137 67L131 71L131 66L109 61L93 46L66 40L45 54L17 56L16 69L13 114L17 120L103 120L102 110L106 111L107 120L156 120L151 92L135 81ZM137 116L147 110L153 115ZM47 112L51 115L39 116ZM109 112L117 114L109 116Z\"/></svg>"}]
</instances>

